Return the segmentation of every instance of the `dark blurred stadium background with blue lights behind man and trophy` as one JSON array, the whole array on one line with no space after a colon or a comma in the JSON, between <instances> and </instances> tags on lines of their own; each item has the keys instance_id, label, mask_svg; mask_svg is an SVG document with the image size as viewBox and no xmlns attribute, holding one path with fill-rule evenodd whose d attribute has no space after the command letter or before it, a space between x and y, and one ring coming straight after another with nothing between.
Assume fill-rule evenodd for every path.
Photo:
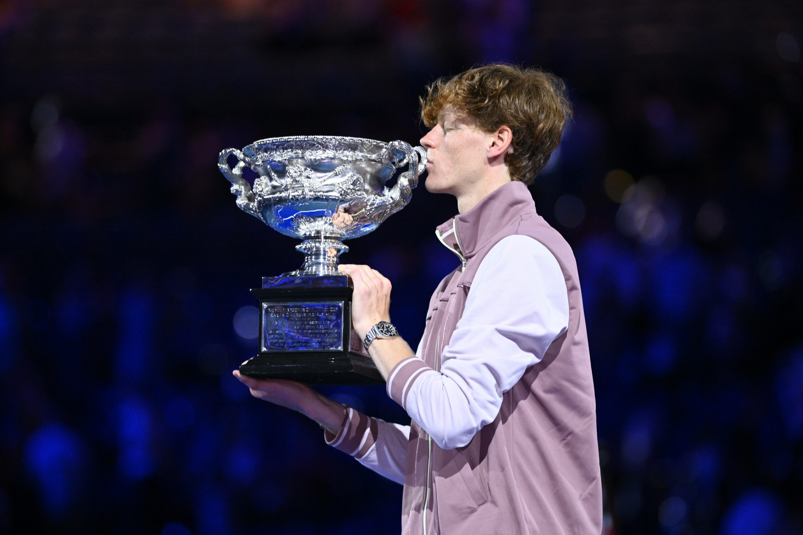
<instances>
[{"instance_id":1,"label":"dark blurred stadium background with blue lights behind man and trophy","mask_svg":"<svg viewBox=\"0 0 803 535\"><path fill-rule=\"evenodd\" d=\"M490 61L576 113L532 193L577 255L605 533L803 533L803 4L2 0L0 533L398 533L402 487L251 399L260 278L302 256L218 152L415 143L418 95ZM415 346L451 197L344 261ZM523 274L526 276L526 274ZM325 387L406 423L381 387Z\"/></svg>"}]
</instances>

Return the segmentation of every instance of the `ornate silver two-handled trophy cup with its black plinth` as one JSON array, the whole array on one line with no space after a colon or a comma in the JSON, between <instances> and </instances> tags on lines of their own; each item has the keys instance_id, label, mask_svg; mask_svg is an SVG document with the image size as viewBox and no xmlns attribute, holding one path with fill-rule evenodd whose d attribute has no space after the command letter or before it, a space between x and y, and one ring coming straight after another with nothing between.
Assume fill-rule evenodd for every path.
<instances>
[{"instance_id":1,"label":"ornate silver two-handled trophy cup with its black plinth","mask_svg":"<svg viewBox=\"0 0 803 535\"><path fill-rule=\"evenodd\" d=\"M237 163L230 167L230 158ZM364 236L410 202L426 149L403 141L291 136L220 153L240 209L303 240L300 270L263 278L259 355L240 367L258 378L375 383L381 375L351 328L349 278L337 270L343 240ZM243 168L258 175L253 187ZM406 170L404 170L406 168ZM393 187L389 180L396 178Z\"/></svg>"}]
</instances>

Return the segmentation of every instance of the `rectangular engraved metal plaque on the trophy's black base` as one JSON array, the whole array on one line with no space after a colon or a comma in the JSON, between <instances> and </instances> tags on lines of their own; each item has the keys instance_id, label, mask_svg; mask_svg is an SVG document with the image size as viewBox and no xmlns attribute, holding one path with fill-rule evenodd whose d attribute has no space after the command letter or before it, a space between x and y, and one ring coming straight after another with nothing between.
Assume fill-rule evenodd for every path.
<instances>
[{"instance_id":1,"label":"rectangular engraved metal plaque on the trophy's black base","mask_svg":"<svg viewBox=\"0 0 803 535\"><path fill-rule=\"evenodd\" d=\"M262 351L342 351L343 302L263 302Z\"/></svg>"}]
</instances>

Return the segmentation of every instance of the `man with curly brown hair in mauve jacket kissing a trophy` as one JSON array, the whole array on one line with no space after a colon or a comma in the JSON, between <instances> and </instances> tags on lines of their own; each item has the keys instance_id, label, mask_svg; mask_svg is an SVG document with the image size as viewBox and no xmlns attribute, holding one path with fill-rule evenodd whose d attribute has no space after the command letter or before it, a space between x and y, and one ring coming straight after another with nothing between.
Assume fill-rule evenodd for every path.
<instances>
[{"instance_id":1,"label":"man with curly brown hair in mauve jacket kissing a trophy","mask_svg":"<svg viewBox=\"0 0 803 535\"><path fill-rule=\"evenodd\" d=\"M388 325L389 281L367 265L340 266L354 282L354 328L410 426L234 372L404 484L402 533L601 533L577 266L527 188L569 115L559 79L503 64L438 80L422 99L426 188L458 201L436 233L461 265L435 290L415 354Z\"/></svg>"}]
</instances>

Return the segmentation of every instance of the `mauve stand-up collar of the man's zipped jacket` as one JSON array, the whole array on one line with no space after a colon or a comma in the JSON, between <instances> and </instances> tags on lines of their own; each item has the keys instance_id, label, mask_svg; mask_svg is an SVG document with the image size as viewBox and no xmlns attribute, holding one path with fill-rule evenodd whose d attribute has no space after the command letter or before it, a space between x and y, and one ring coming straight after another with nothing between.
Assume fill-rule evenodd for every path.
<instances>
[{"instance_id":1,"label":"mauve stand-up collar of the man's zipped jacket","mask_svg":"<svg viewBox=\"0 0 803 535\"><path fill-rule=\"evenodd\" d=\"M438 226L435 234L465 260L475 255L499 230L520 220L524 212L536 213L536 203L524 182L514 180L489 193L467 213Z\"/></svg>"}]
</instances>

